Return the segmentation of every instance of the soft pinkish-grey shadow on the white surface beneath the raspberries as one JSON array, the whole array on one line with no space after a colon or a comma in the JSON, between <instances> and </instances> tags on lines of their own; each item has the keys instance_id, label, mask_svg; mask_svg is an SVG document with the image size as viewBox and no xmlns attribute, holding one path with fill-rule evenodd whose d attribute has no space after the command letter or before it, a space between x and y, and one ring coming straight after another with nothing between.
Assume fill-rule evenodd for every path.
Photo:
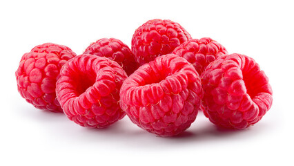
<instances>
[{"instance_id":1,"label":"soft pinkish-grey shadow on the white surface beneath the raspberries","mask_svg":"<svg viewBox=\"0 0 294 166\"><path fill-rule=\"evenodd\" d=\"M202 112L199 112L195 122L183 133L173 137L159 137L140 129L127 116L109 127L90 129L71 122L63 113L41 111L26 105L14 106L16 110L14 113L19 114L19 118L32 121L34 125L47 130L49 135L54 134L73 142L84 142L83 144L94 147L104 143L106 145L160 149L182 145L205 145L214 142L228 142L229 140L242 142L242 140L250 139L256 134L262 134L264 129L268 128L262 122L244 130L219 128L209 122Z\"/></svg>"}]
</instances>

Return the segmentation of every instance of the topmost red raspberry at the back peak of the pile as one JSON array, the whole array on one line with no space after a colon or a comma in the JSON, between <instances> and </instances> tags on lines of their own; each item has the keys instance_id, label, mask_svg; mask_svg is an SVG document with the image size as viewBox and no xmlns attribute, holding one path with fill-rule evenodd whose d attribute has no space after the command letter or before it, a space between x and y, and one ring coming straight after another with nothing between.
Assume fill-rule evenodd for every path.
<instances>
[{"instance_id":1,"label":"topmost red raspberry at the back peak of the pile","mask_svg":"<svg viewBox=\"0 0 294 166\"><path fill-rule=\"evenodd\" d=\"M153 19L137 28L132 38L132 51L142 65L155 57L172 53L180 44L191 39L190 34L176 22Z\"/></svg>"}]
</instances>

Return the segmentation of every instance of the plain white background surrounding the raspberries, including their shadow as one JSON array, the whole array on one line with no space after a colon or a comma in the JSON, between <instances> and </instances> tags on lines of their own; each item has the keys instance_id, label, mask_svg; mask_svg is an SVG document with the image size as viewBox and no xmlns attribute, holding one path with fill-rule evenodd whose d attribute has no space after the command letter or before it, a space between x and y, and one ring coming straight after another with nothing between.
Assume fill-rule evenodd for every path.
<instances>
[{"instance_id":1,"label":"plain white background surrounding the raspberries, including their shadow","mask_svg":"<svg viewBox=\"0 0 294 166\"><path fill-rule=\"evenodd\" d=\"M0 165L293 165L293 7L291 1L1 1ZM130 46L148 19L171 19L193 38L253 57L273 86L273 107L243 131L220 131L202 113L182 136L160 138L128 117L86 129L40 111L17 92L23 53L46 42L78 55L115 37Z\"/></svg>"}]
</instances>

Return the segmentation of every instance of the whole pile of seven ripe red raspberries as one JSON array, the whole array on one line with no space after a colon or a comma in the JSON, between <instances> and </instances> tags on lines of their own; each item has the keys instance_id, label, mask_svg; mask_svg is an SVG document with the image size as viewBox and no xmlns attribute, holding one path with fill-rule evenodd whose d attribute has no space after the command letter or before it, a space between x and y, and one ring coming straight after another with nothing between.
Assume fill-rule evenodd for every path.
<instances>
[{"instance_id":1,"label":"whole pile of seven ripe red raspberries","mask_svg":"<svg viewBox=\"0 0 294 166\"><path fill-rule=\"evenodd\" d=\"M174 21L147 21L131 46L104 38L81 55L35 46L21 57L17 89L37 109L63 112L83 127L108 127L127 114L157 136L182 133L198 110L219 127L245 129L271 108L271 85L254 59L193 39Z\"/></svg>"}]
</instances>

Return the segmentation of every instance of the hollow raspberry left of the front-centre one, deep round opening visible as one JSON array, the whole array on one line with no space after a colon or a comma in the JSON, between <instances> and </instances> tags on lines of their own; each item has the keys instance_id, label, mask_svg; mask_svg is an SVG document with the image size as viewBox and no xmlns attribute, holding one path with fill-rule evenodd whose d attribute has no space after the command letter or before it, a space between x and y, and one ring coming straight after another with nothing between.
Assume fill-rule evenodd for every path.
<instances>
[{"instance_id":1,"label":"hollow raspberry left of the front-centre one, deep round opening visible","mask_svg":"<svg viewBox=\"0 0 294 166\"><path fill-rule=\"evenodd\" d=\"M66 116L83 127L103 128L123 118L119 90L126 72L106 57L79 55L60 71L56 92Z\"/></svg>"}]
</instances>

